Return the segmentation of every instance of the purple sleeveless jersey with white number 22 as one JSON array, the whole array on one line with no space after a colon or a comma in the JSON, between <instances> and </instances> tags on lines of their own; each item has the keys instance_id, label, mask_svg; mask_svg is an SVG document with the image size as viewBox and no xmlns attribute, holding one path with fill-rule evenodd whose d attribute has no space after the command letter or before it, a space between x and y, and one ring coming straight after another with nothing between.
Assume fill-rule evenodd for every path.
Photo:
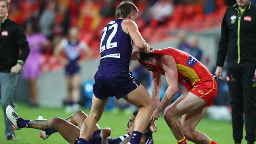
<instances>
[{"instance_id":1,"label":"purple sleeveless jersey with white number 22","mask_svg":"<svg viewBox=\"0 0 256 144\"><path fill-rule=\"evenodd\" d=\"M134 42L130 35L122 30L122 21L113 20L102 31L98 73L129 72Z\"/></svg>"}]
</instances>

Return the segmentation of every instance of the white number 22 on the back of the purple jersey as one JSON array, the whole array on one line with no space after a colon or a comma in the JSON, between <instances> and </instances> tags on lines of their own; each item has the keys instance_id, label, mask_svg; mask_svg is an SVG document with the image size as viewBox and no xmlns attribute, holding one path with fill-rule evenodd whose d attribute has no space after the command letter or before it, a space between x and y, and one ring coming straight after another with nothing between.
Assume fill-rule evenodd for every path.
<instances>
[{"instance_id":1,"label":"white number 22 on the back of the purple jersey","mask_svg":"<svg viewBox=\"0 0 256 144\"><path fill-rule=\"evenodd\" d=\"M113 22L115 22L115 21L113 21ZM101 41L100 41L100 53L103 52L104 50L106 50L106 47L107 47L107 49L109 49L109 48L116 48L116 47L117 47L117 42L112 42L112 43L111 43L113 37L114 37L115 34L117 33L117 26L118 26L117 23L115 23L115 24L109 26L109 28L108 28L108 27L105 27L104 30L102 31L102 32L103 32L103 35L102 35L102 38L101 38ZM102 42L103 42L103 40L105 39L107 30L111 30L112 28L114 28L114 30L111 32L111 34L110 34L109 37L107 38L107 43L106 43L106 45L103 45L103 46L102 46Z\"/></svg>"}]
</instances>

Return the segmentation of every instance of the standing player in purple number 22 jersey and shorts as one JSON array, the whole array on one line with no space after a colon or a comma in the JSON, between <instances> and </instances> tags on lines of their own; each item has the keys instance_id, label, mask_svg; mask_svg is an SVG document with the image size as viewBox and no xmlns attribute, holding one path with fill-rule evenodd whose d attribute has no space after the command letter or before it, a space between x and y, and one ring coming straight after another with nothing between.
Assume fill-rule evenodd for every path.
<instances>
[{"instance_id":1,"label":"standing player in purple number 22 jersey and shorts","mask_svg":"<svg viewBox=\"0 0 256 144\"><path fill-rule=\"evenodd\" d=\"M116 9L116 20L109 22L102 31L100 41L100 64L95 74L91 112L83 123L79 142L87 144L93 127L104 111L109 96L124 98L139 108L135 118L134 131L129 144L139 144L147 127L154 105L147 90L129 72L130 60L136 59L132 53L135 44L139 51L148 53L150 46L138 31L139 10L132 2L121 2Z\"/></svg>"}]
</instances>

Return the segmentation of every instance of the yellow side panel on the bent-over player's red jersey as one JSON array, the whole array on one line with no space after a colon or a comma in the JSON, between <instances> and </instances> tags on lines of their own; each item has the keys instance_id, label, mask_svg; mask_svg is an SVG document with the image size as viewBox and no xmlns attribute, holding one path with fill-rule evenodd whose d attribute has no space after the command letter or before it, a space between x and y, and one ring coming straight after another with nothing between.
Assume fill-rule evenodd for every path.
<instances>
[{"instance_id":1,"label":"yellow side panel on the bent-over player's red jersey","mask_svg":"<svg viewBox=\"0 0 256 144\"><path fill-rule=\"evenodd\" d=\"M179 73L190 79L192 85L201 80L193 68L181 64L176 64L176 67Z\"/></svg>"}]
</instances>

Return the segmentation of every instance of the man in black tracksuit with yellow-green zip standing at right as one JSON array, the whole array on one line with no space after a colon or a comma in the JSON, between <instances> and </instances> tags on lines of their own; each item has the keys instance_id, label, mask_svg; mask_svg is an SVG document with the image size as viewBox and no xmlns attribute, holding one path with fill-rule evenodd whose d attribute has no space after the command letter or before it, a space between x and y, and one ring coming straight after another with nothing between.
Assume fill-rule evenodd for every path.
<instances>
[{"instance_id":1,"label":"man in black tracksuit with yellow-green zip standing at right","mask_svg":"<svg viewBox=\"0 0 256 144\"><path fill-rule=\"evenodd\" d=\"M256 7L250 0L237 0L226 9L217 55L217 78L227 56L227 82L232 107L235 144L243 138L243 112L247 144L254 144L256 131Z\"/></svg>"}]
</instances>

